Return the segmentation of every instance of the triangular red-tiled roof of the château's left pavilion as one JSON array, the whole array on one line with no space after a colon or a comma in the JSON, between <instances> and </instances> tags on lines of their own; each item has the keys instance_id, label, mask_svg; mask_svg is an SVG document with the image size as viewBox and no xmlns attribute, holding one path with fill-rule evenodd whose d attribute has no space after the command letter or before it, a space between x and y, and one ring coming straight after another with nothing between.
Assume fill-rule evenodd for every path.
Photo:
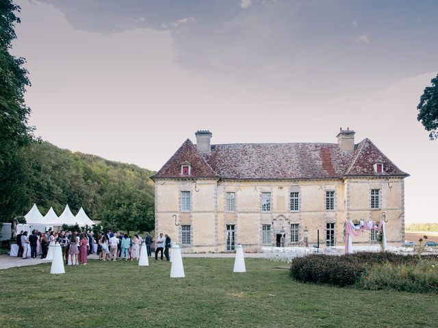
<instances>
[{"instance_id":1,"label":"triangular red-tiled roof of the ch\u00e2teau's left pavilion","mask_svg":"<svg viewBox=\"0 0 438 328\"><path fill-rule=\"evenodd\" d=\"M190 176L181 175L181 165L190 164ZM219 178L203 156L187 139L166 164L151 178Z\"/></svg>"}]
</instances>

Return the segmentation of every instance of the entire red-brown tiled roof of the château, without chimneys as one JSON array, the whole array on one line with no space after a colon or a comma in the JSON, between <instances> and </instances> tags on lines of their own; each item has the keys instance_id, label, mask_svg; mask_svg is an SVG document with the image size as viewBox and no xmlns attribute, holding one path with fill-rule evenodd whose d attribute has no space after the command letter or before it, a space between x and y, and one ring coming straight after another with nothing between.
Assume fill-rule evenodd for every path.
<instances>
[{"instance_id":1,"label":"entire red-brown tiled roof of the ch\u00e2teau, without chimneys","mask_svg":"<svg viewBox=\"0 0 438 328\"><path fill-rule=\"evenodd\" d=\"M183 163L190 163L190 176L181 176ZM374 172L374 163L383 163L383 174ZM369 139L357 144L353 153L344 152L337 143L231 143L212 145L209 154L200 154L187 139L152 178L289 180L382 175L408 174Z\"/></svg>"}]
</instances>

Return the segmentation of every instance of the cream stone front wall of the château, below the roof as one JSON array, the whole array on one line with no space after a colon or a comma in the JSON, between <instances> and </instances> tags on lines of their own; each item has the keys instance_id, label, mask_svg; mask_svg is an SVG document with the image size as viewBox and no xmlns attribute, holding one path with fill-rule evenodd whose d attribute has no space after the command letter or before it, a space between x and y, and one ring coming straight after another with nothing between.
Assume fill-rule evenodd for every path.
<instances>
[{"instance_id":1,"label":"cream stone front wall of the ch\u00e2teau, below the roof","mask_svg":"<svg viewBox=\"0 0 438 328\"><path fill-rule=\"evenodd\" d=\"M371 189L381 190L380 208L371 209ZM181 212L181 191L190 191L191 210ZM290 192L298 191L298 211L290 210ZM326 191L335 191L335 208L326 210ZM226 210L227 192L235 193L235 211ZM261 210L261 193L271 193L271 210ZM299 224L299 239L307 231L309 246L324 247L326 224L335 223L335 244L344 243L344 222L381 220L386 215L389 245L404 241L404 181L402 178L346 178L339 180L300 181L220 181L157 180L155 182L156 234L168 233L181 244L181 225L192 228L190 245L183 251L226 251L227 225L234 225L235 243L247 251L263 246L262 225L270 225L270 244L283 229L286 245L290 245L290 224ZM175 217L177 216L175 225ZM370 243L365 232L354 243Z\"/></svg>"}]
</instances>

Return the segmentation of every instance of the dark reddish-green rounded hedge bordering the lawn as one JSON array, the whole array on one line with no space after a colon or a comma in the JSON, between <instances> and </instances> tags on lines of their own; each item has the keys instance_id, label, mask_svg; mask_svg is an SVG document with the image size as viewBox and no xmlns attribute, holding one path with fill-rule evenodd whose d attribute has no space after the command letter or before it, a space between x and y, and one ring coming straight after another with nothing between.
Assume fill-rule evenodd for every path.
<instances>
[{"instance_id":1,"label":"dark reddish-green rounded hedge bordering the lawn","mask_svg":"<svg viewBox=\"0 0 438 328\"><path fill-rule=\"evenodd\" d=\"M420 258L417 256L404 256L389 252L361 252L343 256L315 254L294 258L289 275L300 282L348 286L358 282L365 272L376 264L390 263L409 266L419 261Z\"/></svg>"}]
</instances>

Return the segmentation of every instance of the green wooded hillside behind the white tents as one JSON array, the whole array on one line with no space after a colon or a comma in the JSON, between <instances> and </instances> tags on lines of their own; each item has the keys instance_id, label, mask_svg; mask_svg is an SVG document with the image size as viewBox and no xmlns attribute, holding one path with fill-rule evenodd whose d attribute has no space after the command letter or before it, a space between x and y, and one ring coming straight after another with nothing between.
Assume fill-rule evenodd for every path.
<instances>
[{"instance_id":1,"label":"green wooded hillside behind the white tents","mask_svg":"<svg viewBox=\"0 0 438 328\"><path fill-rule=\"evenodd\" d=\"M25 148L29 181L22 190L24 215L33 203L42 215L53 206L60 215L66 204L76 214L81 206L105 228L151 230L154 226L154 172L99 156L70 152L51 143Z\"/></svg>"}]
</instances>

